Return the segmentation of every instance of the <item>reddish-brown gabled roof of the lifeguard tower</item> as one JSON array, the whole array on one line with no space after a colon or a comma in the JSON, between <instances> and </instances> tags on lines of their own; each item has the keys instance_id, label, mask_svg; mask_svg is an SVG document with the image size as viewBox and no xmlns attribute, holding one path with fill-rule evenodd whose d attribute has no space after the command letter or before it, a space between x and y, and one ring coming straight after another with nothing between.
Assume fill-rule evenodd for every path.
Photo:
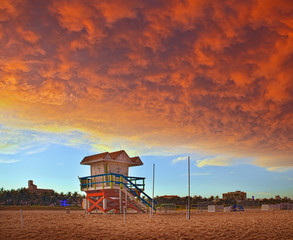
<instances>
[{"instance_id":1,"label":"reddish-brown gabled roof of the lifeguard tower","mask_svg":"<svg viewBox=\"0 0 293 240\"><path fill-rule=\"evenodd\" d=\"M97 162L119 162L127 164L130 167L143 165L141 159L138 156L130 158L124 150L116 152L103 152L87 156L80 162L80 164L91 165Z\"/></svg>"}]
</instances>

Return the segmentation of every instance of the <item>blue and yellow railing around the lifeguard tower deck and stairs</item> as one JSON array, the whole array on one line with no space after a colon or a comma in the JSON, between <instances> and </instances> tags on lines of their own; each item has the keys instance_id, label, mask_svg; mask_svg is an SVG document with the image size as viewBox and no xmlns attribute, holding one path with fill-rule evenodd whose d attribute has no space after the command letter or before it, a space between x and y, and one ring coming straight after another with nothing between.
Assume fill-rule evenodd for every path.
<instances>
[{"instance_id":1,"label":"blue and yellow railing around the lifeguard tower deck and stairs","mask_svg":"<svg viewBox=\"0 0 293 240\"><path fill-rule=\"evenodd\" d=\"M145 178L124 176L117 173L105 173L86 177L79 177L81 191L101 189L122 189L125 186L134 196L140 199L145 205L152 208L153 199L144 192ZM154 201L154 210L156 210Z\"/></svg>"}]
</instances>

